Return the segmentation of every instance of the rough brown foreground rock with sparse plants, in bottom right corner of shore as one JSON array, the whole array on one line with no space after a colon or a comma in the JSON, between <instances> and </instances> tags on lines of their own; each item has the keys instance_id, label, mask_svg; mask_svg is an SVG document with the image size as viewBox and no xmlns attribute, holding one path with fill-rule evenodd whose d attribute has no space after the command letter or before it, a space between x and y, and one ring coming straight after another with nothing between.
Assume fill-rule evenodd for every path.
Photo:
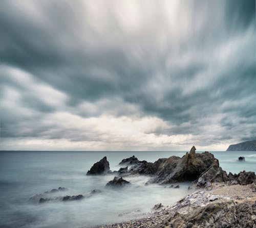
<instances>
[{"instance_id":1,"label":"rough brown foreground rock with sparse plants, in bottom right corner of shore","mask_svg":"<svg viewBox=\"0 0 256 228\"><path fill-rule=\"evenodd\" d=\"M204 207L195 208L186 214L176 212L174 216L169 217L156 227L252 228L256 225L255 210L256 204L253 204L252 201L242 203L234 203L233 200L212 202Z\"/></svg>"}]
</instances>

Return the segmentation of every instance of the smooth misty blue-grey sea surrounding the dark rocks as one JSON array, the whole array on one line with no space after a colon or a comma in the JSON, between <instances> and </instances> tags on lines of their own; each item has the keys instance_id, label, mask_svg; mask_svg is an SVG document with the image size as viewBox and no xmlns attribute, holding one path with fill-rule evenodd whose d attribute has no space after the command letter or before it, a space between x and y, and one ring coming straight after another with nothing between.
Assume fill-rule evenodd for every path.
<instances>
[{"instance_id":1,"label":"smooth misty blue-grey sea surrounding the dark rocks","mask_svg":"<svg viewBox=\"0 0 256 228\"><path fill-rule=\"evenodd\" d=\"M197 151L197 153L199 153ZM211 152L227 172L256 172L256 151ZM0 227L90 227L91 225L133 219L149 212L155 204L173 204L188 193L189 183L180 188L145 185L145 176L126 177L131 186L106 189L113 175L87 176L91 166L107 157L112 171L119 162L135 155L139 160L154 162L185 151L0 151ZM245 162L238 162L239 156ZM76 201L33 204L29 198L54 188L65 187L54 196L89 194Z\"/></svg>"}]
</instances>

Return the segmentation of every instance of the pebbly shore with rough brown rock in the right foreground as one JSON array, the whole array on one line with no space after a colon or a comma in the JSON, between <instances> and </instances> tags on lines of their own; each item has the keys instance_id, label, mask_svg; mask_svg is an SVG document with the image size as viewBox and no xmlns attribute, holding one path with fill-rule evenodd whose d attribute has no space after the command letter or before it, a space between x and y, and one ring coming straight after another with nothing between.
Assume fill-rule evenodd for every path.
<instances>
[{"instance_id":1,"label":"pebbly shore with rough brown rock in the right foreground","mask_svg":"<svg viewBox=\"0 0 256 228\"><path fill-rule=\"evenodd\" d=\"M190 216L190 217L189 217ZM189 218L189 219L188 219ZM225 226L228 225L228 226ZM93 228L256 227L255 185L217 184L175 205L161 206L143 218Z\"/></svg>"}]
</instances>

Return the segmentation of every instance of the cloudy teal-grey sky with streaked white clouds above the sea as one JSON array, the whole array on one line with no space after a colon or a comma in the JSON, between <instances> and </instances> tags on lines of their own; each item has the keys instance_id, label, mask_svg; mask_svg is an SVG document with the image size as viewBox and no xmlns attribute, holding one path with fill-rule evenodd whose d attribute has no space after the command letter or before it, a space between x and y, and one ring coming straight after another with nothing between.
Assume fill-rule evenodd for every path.
<instances>
[{"instance_id":1,"label":"cloudy teal-grey sky with streaked white clouds above the sea","mask_svg":"<svg viewBox=\"0 0 256 228\"><path fill-rule=\"evenodd\" d=\"M2 150L256 139L255 1L0 1Z\"/></svg>"}]
</instances>

